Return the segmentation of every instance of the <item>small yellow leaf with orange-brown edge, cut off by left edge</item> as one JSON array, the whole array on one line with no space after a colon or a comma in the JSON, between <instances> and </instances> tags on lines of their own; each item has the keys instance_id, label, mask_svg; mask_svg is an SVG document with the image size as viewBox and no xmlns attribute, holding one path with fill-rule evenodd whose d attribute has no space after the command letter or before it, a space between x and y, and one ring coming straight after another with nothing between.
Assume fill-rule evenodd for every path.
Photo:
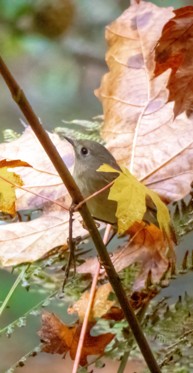
<instances>
[{"instance_id":1,"label":"small yellow leaf with orange-brown edge, cut off by left edge","mask_svg":"<svg viewBox=\"0 0 193 373\"><path fill-rule=\"evenodd\" d=\"M24 185L23 180L15 172L8 171L8 168L13 167L32 167L29 163L23 162L20 159L6 161L3 159L0 161L0 176L4 179L18 184L19 186ZM9 214L15 215L15 186L7 183L0 178L0 210Z\"/></svg>"}]
</instances>

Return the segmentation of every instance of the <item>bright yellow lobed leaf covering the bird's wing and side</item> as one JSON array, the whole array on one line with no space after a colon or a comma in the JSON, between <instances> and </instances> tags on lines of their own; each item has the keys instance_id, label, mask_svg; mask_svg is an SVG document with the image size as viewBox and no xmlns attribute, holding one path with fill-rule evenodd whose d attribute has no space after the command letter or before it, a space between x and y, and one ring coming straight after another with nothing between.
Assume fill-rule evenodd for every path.
<instances>
[{"instance_id":1,"label":"bright yellow lobed leaf covering the bird's wing and side","mask_svg":"<svg viewBox=\"0 0 193 373\"><path fill-rule=\"evenodd\" d=\"M159 227L169 236L170 214L165 204L155 192L140 183L126 167L121 167L121 170L123 173L119 172L120 176L115 179L108 195L109 200L117 201L116 216L118 218L118 231L120 233L124 232L133 223L140 223L142 221L146 211L145 196L148 194L157 208ZM103 164L97 171L118 172L116 169L108 166L108 164Z\"/></svg>"}]
</instances>

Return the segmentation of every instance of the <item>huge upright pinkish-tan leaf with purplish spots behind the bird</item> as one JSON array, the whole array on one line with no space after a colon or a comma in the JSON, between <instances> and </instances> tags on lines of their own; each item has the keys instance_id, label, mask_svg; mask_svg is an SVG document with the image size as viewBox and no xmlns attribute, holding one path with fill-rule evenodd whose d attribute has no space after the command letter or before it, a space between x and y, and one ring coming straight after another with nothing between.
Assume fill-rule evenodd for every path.
<instances>
[{"instance_id":1,"label":"huge upright pinkish-tan leaf with purplish spots behind the bird","mask_svg":"<svg viewBox=\"0 0 193 373\"><path fill-rule=\"evenodd\" d=\"M155 47L173 17L172 7L132 1L107 26L110 72L95 94L104 110L101 135L117 162L168 200L179 200L193 180L193 119L184 111L174 119L167 89L171 69L154 78Z\"/></svg>"}]
</instances>

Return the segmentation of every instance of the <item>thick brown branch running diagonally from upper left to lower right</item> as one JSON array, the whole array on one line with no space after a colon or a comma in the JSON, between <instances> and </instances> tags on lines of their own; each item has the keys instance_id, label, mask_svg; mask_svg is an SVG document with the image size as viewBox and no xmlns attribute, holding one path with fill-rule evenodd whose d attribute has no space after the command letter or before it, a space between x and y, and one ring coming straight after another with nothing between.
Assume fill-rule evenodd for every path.
<instances>
[{"instance_id":1,"label":"thick brown branch running diagonally from upper left to lower right","mask_svg":"<svg viewBox=\"0 0 193 373\"><path fill-rule=\"evenodd\" d=\"M53 163L54 167L56 168L58 174L60 175L64 185L66 186L72 200L79 204L83 201L82 194L78 186L76 185L72 175L70 174L69 170L66 167L66 164L63 162L60 154L58 153L56 147L54 146L53 142L50 140L47 132L39 122L37 115L35 115L31 105L29 104L25 94L20 89L19 85L11 75L9 69L5 65L4 61L0 57L0 73L3 76L9 90L12 94L13 100L18 104L20 107L23 115L28 120L29 125L33 129L35 135L37 136L39 142L41 143L42 147L44 148L45 152L47 153L48 157L50 158L51 162ZM108 280L117 296L117 299L120 303L120 306L123 310L123 313L132 329L133 335L136 338L137 344L143 354L143 357L149 367L149 370L152 373L161 373L161 370L155 360L154 355L146 341L146 338L141 330L139 322L137 321L136 315L133 311L133 308L130 304L130 301L127 299L127 296L124 292L124 289L121 285L120 278L118 277L116 270L114 269L113 263L108 255L107 248L105 247L104 243L102 242L102 238L98 232L98 229L95 225L94 220L92 219L91 213L86 206L86 203L83 204L79 208L79 212L85 222L85 225L88 228L88 231L91 235L91 238L97 248L98 254L101 258L102 263L105 266Z\"/></svg>"}]
</instances>

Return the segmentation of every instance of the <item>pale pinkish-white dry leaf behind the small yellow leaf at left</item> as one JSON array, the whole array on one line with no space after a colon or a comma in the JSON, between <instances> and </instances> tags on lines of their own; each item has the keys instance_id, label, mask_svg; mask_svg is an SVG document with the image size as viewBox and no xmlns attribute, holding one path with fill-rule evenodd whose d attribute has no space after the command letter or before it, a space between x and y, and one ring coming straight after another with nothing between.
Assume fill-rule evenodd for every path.
<instances>
[{"instance_id":1,"label":"pale pinkish-white dry leaf behind the small yellow leaf at left","mask_svg":"<svg viewBox=\"0 0 193 373\"><path fill-rule=\"evenodd\" d=\"M66 166L72 167L74 155L70 144L60 140L56 134L48 132L48 135L66 163ZM60 176L29 126L26 127L25 132L17 140L0 144L0 159L3 158L7 160L19 158L32 165L33 169L27 169L23 166L17 169L26 189L45 195L45 197L51 200L69 196ZM34 209L45 202L43 198L19 188L16 189L16 197L16 210Z\"/></svg>"}]
</instances>

